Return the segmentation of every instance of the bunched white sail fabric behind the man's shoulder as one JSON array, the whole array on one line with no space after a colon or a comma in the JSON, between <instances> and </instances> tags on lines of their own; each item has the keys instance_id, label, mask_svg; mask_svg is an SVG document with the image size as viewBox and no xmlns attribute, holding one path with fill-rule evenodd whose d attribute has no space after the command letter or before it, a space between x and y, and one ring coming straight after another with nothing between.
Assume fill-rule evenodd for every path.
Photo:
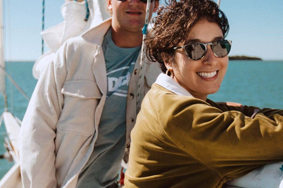
<instances>
[{"instance_id":1,"label":"bunched white sail fabric behind the man's shoulder","mask_svg":"<svg viewBox=\"0 0 283 188\"><path fill-rule=\"evenodd\" d=\"M46 65L52 61L54 53L69 38L79 36L89 28L93 28L102 21L110 18L107 12L106 1L88 0L90 16L88 21L84 21L86 16L85 1L70 1L62 5L61 12L64 21L41 32L45 45L50 49L40 56L34 63L32 74L35 79L40 77Z\"/></svg>"}]
</instances>

